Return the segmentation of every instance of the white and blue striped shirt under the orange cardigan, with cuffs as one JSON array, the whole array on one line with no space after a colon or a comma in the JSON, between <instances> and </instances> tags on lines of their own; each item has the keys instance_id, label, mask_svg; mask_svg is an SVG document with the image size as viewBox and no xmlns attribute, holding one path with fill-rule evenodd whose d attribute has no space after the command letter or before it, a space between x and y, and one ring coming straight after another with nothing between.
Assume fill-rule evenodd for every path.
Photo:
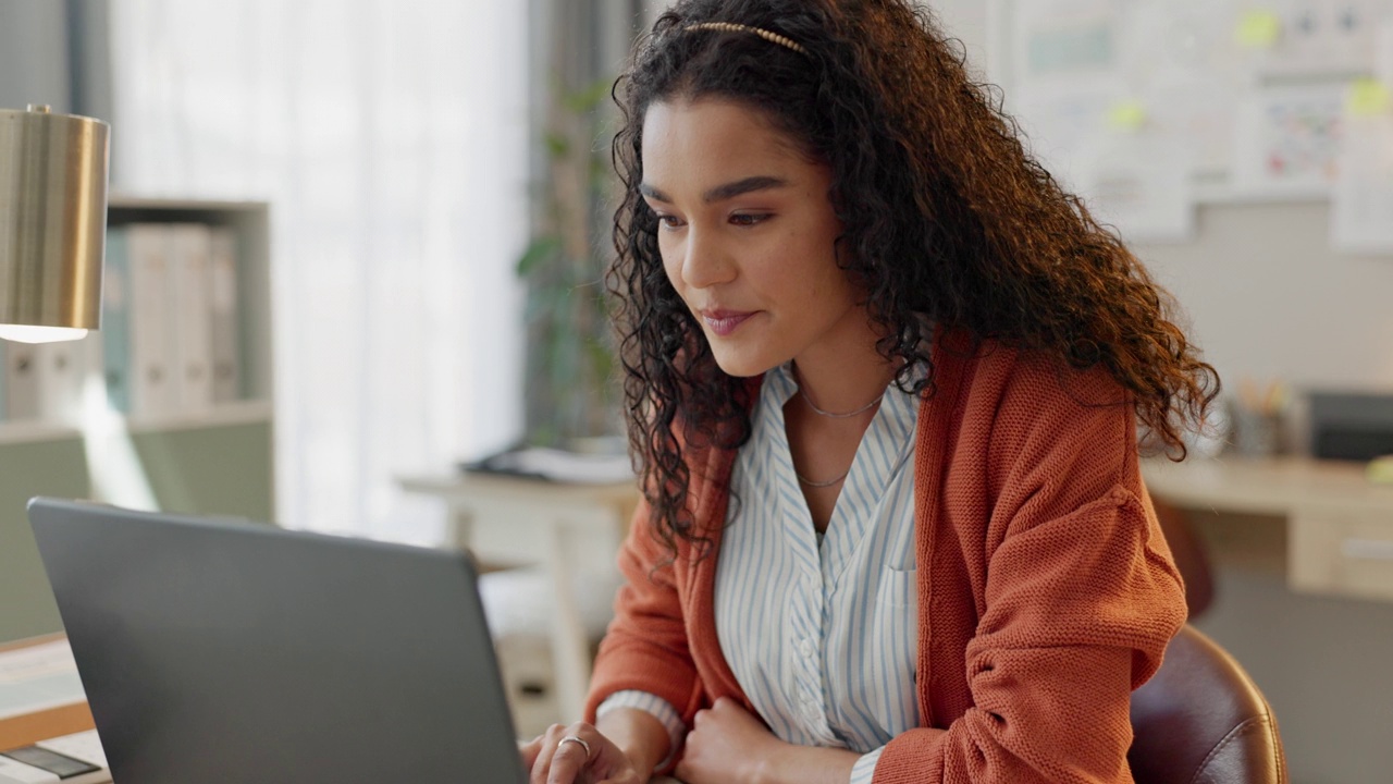
<instances>
[{"instance_id":1,"label":"white and blue striped shirt under the orange cardigan, with cuffs","mask_svg":"<svg viewBox=\"0 0 1393 784\"><path fill-rule=\"evenodd\" d=\"M787 365L765 375L749 442L731 476L731 523L716 571L716 631L741 689L780 739L862 756L918 727L914 431L918 399L892 386L857 448L826 537L794 474L783 406L798 391ZM600 713L641 707L685 727L653 695L618 692Z\"/></svg>"}]
</instances>

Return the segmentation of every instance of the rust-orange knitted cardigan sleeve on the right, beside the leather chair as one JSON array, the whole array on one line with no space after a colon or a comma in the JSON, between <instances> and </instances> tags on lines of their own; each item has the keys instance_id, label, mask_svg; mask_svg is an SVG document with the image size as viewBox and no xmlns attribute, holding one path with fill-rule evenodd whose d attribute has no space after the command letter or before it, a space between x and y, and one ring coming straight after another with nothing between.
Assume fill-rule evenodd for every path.
<instances>
[{"instance_id":1,"label":"rust-orange knitted cardigan sleeve on the right, beside the leather chair","mask_svg":"<svg viewBox=\"0 0 1393 784\"><path fill-rule=\"evenodd\" d=\"M990 519L971 706L894 738L876 784L1131 781L1130 698L1184 622L1180 576L1145 501L1130 407L1048 384L1017 392L992 402L978 452L993 467L976 499Z\"/></svg>"}]
</instances>

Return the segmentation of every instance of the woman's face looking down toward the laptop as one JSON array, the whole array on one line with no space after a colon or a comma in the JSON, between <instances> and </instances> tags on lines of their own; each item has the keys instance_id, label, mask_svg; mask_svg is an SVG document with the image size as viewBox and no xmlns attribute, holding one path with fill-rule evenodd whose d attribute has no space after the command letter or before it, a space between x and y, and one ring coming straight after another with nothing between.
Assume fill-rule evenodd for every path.
<instances>
[{"instance_id":1,"label":"woman's face looking down toward the laptop","mask_svg":"<svg viewBox=\"0 0 1393 784\"><path fill-rule=\"evenodd\" d=\"M836 262L826 166L761 112L722 99L651 105L642 156L663 266L722 370L758 375L864 343L865 308Z\"/></svg>"}]
</instances>

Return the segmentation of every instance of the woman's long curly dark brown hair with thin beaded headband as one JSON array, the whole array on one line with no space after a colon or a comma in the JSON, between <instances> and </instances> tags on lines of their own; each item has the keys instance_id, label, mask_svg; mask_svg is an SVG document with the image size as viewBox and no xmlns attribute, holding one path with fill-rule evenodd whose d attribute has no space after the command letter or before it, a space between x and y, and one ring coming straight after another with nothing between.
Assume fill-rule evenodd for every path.
<instances>
[{"instance_id":1,"label":"woman's long curly dark brown hair with thin beaded headband","mask_svg":"<svg viewBox=\"0 0 1393 784\"><path fill-rule=\"evenodd\" d=\"M730 22L770 31L688 29ZM724 374L663 271L639 194L645 112L719 98L751 106L830 167L844 225L839 265L866 293L896 382L932 393L932 331L965 332L1105 367L1145 435L1181 459L1181 432L1217 395L1174 304L1117 234L1034 160L1000 91L975 84L961 45L904 0L681 0L614 85L618 257L607 285L624 365L628 438L657 536L702 544L691 472L751 431L751 385ZM1061 365L1061 367L1063 367ZM918 372L922 368L924 372ZM911 379L918 378L918 382ZM724 481L727 477L710 477Z\"/></svg>"}]
</instances>

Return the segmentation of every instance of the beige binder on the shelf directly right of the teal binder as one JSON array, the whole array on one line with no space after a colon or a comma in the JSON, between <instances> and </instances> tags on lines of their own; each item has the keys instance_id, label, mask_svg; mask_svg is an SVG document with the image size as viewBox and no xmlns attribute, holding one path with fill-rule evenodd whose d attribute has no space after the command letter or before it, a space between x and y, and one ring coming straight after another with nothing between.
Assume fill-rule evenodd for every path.
<instances>
[{"instance_id":1,"label":"beige binder on the shelf directly right of the teal binder","mask_svg":"<svg viewBox=\"0 0 1393 784\"><path fill-rule=\"evenodd\" d=\"M132 416L163 416L178 407L173 372L176 335L170 297L170 243L166 225L127 227L131 353L128 374Z\"/></svg>"}]
</instances>

